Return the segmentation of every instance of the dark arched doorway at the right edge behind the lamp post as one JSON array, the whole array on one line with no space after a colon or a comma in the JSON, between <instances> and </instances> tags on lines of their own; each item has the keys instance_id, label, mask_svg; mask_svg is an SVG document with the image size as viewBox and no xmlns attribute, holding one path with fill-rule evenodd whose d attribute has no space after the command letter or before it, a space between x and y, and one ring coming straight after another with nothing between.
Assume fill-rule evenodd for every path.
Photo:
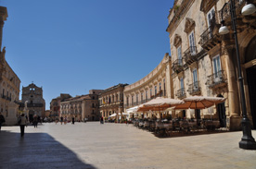
<instances>
[{"instance_id":1,"label":"dark arched doorway at the right edge behind the lamp post","mask_svg":"<svg viewBox=\"0 0 256 169\"><path fill-rule=\"evenodd\" d=\"M245 62L252 63L256 61L256 36L250 41L245 55ZM250 111L252 116L253 128L256 129L256 66L252 64L246 69L247 83L250 95Z\"/></svg>"}]
</instances>

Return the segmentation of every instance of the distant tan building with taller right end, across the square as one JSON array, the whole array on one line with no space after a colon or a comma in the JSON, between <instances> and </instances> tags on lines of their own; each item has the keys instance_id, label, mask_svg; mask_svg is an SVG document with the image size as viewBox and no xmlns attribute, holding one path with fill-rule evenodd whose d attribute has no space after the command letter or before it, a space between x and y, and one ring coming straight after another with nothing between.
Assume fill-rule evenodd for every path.
<instances>
[{"instance_id":1,"label":"distant tan building with taller right end, across the square","mask_svg":"<svg viewBox=\"0 0 256 169\"><path fill-rule=\"evenodd\" d=\"M76 121L97 121L100 118L98 94L102 90L90 90L89 94L72 97L60 102L60 115Z\"/></svg>"}]
</instances>

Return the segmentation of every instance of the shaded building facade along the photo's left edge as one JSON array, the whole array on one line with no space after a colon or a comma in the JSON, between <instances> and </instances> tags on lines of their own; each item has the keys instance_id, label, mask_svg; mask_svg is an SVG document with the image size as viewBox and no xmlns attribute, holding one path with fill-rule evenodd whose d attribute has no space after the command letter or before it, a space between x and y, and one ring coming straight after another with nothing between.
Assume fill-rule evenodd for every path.
<instances>
[{"instance_id":1,"label":"shaded building facade along the photo's left edge","mask_svg":"<svg viewBox=\"0 0 256 169\"><path fill-rule=\"evenodd\" d=\"M7 9L0 6L0 112L6 118L6 125L15 125L19 114L20 79L6 62L6 47L2 49L3 27Z\"/></svg>"}]
</instances>

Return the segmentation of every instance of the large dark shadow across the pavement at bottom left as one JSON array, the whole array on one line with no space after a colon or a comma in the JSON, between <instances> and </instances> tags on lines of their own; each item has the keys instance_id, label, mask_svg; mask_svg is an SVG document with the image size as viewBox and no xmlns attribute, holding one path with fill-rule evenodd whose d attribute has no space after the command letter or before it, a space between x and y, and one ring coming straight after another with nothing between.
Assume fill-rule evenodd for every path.
<instances>
[{"instance_id":1,"label":"large dark shadow across the pavement at bottom left","mask_svg":"<svg viewBox=\"0 0 256 169\"><path fill-rule=\"evenodd\" d=\"M46 133L0 132L0 168L96 168Z\"/></svg>"}]
</instances>

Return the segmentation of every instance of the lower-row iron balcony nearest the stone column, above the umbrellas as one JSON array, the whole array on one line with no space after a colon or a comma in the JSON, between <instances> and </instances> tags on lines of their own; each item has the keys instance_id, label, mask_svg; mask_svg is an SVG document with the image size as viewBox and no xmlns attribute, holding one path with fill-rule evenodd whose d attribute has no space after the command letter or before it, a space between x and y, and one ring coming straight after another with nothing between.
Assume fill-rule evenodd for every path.
<instances>
[{"instance_id":1,"label":"lower-row iron balcony nearest the stone column, above the umbrellas","mask_svg":"<svg viewBox=\"0 0 256 169\"><path fill-rule=\"evenodd\" d=\"M226 85L226 74L224 70L208 76L206 84L209 85L211 89L224 87Z\"/></svg>"}]
</instances>

